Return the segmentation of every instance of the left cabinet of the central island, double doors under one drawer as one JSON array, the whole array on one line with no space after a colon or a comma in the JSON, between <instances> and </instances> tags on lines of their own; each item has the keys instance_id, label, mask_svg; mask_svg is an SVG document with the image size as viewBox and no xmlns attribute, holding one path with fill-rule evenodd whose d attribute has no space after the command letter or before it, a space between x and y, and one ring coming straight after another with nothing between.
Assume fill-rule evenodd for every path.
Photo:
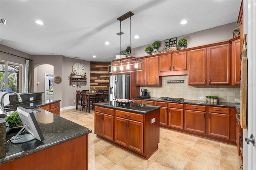
<instances>
[{"instance_id":1,"label":"left cabinet of the central island, double doors under one drawer","mask_svg":"<svg viewBox=\"0 0 256 170\"><path fill-rule=\"evenodd\" d=\"M94 133L114 141L114 110L95 106Z\"/></svg>"}]
</instances>

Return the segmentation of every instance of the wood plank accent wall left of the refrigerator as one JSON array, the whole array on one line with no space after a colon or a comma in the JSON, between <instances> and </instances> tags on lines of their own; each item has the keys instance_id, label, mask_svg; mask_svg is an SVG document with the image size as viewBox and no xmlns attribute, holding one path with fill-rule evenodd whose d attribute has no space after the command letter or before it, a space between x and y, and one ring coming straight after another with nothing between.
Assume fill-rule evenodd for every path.
<instances>
[{"instance_id":1,"label":"wood plank accent wall left of the refrigerator","mask_svg":"<svg viewBox=\"0 0 256 170\"><path fill-rule=\"evenodd\" d=\"M92 62L91 61L91 80L90 86L95 87L98 90L108 90L109 75L108 65L111 62Z\"/></svg>"}]
</instances>

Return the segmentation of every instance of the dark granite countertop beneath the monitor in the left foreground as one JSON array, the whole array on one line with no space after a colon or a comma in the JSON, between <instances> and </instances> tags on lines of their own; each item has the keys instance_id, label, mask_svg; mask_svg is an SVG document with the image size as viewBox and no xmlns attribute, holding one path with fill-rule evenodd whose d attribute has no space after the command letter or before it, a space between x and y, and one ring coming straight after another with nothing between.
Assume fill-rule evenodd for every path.
<instances>
[{"instance_id":1,"label":"dark granite countertop beneath the monitor in the left foreground","mask_svg":"<svg viewBox=\"0 0 256 170\"><path fill-rule=\"evenodd\" d=\"M45 102L38 101L37 105L44 105ZM46 101L48 103L48 101ZM91 129L78 125L72 121L54 115L43 109L38 109L40 113L34 113L38 125L44 135L44 141L32 140L23 144L6 143L6 157L0 160L0 164L23 158L36 152L40 152L47 148L62 144L80 136L89 134ZM8 132L6 134L6 141L18 132ZM78 146L80 147L80 146ZM2 150L1 150L2 152Z\"/></svg>"}]
</instances>

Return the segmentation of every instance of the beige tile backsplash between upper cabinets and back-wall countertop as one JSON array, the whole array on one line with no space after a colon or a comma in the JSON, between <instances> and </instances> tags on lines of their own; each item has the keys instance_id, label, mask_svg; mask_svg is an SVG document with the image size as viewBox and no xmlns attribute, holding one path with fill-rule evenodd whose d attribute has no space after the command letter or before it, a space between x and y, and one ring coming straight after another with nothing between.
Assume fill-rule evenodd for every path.
<instances>
[{"instance_id":1,"label":"beige tile backsplash between upper cabinets and back-wall countertop","mask_svg":"<svg viewBox=\"0 0 256 170\"><path fill-rule=\"evenodd\" d=\"M184 80L184 83L167 84L168 80ZM189 86L188 75L164 76L162 77L162 87L140 87L140 95L142 88L147 89L151 97L181 97L186 100L201 100L200 97L212 95L218 96L220 102L229 103L235 103L236 98L240 99L239 86Z\"/></svg>"}]
</instances>

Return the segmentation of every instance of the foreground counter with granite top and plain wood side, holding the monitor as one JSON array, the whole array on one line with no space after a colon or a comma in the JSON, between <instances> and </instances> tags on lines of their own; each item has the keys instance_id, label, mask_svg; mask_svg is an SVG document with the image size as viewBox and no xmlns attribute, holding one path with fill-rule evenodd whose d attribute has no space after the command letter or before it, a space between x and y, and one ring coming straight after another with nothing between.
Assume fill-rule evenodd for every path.
<instances>
[{"instance_id":1,"label":"foreground counter with granite top and plain wood side, holding the monitor","mask_svg":"<svg viewBox=\"0 0 256 170\"><path fill-rule=\"evenodd\" d=\"M88 169L88 134L92 130L44 109L38 110L40 113L34 115L45 140L23 144L7 142L0 169ZM18 130L10 130L6 140Z\"/></svg>"}]
</instances>

